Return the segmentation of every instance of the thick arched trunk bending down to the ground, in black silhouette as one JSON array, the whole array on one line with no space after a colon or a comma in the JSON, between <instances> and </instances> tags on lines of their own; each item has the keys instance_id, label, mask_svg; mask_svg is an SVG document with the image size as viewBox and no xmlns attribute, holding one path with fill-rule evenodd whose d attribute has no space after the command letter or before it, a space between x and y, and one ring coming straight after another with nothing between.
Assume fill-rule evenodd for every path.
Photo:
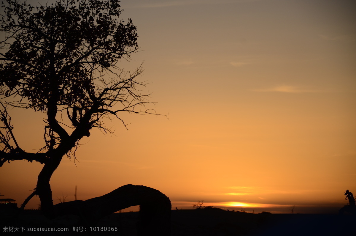
<instances>
[{"instance_id":1,"label":"thick arched trunk bending down to the ground, in black silhouette","mask_svg":"<svg viewBox=\"0 0 356 236\"><path fill-rule=\"evenodd\" d=\"M143 185L124 185L111 193L86 201L70 201L54 205L55 214L78 215L89 225L104 216L130 206L140 205L138 235L170 235L171 201L156 189Z\"/></svg>"}]
</instances>

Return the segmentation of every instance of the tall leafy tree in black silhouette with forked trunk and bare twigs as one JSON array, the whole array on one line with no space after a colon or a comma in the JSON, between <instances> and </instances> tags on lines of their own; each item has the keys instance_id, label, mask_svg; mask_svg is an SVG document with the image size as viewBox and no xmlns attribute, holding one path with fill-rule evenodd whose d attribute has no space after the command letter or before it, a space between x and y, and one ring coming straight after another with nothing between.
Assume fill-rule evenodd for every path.
<instances>
[{"instance_id":1,"label":"tall leafy tree in black silhouette with forked trunk and bare twigs","mask_svg":"<svg viewBox=\"0 0 356 236\"><path fill-rule=\"evenodd\" d=\"M53 215L49 181L62 157L75 158L79 140L104 126L103 118L122 112L156 114L136 81L138 67L125 72L120 59L137 51L131 19L120 20L118 0L57 0L32 6L4 0L0 31L0 166L27 160L43 164L33 193L41 209ZM8 107L31 108L45 114L44 145L36 153L21 149L12 130ZM70 128L69 132L68 127Z\"/></svg>"}]
</instances>

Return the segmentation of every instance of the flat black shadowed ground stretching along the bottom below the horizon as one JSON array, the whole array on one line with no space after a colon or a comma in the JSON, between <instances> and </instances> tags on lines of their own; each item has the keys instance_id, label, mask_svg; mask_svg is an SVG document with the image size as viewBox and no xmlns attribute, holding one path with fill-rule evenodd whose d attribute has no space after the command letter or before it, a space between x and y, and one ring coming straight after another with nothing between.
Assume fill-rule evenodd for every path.
<instances>
[{"instance_id":1,"label":"flat black shadowed ground stretching along the bottom below the horizon","mask_svg":"<svg viewBox=\"0 0 356 236\"><path fill-rule=\"evenodd\" d=\"M91 230L86 228L85 230L86 232L91 231L89 234L90 236L134 236L136 235L137 217L138 212L112 214L101 220L95 228L91 228ZM81 228L82 226L80 225L71 225L68 227L68 222L75 220L75 216L64 216L61 219L49 221L41 215L27 212L26 214L20 215L17 220L9 220L2 217L0 221L0 235L83 235L80 231L84 231L84 227ZM223 211L219 209L172 210L171 235L356 236L355 222L356 216L352 215L251 214L244 212ZM53 226L67 227L68 231L34 232L28 230L29 227L38 229L40 227L43 228ZM20 232L9 232L11 227L13 227L13 231L17 229ZM114 229L114 231L107 231L107 227Z\"/></svg>"}]
</instances>

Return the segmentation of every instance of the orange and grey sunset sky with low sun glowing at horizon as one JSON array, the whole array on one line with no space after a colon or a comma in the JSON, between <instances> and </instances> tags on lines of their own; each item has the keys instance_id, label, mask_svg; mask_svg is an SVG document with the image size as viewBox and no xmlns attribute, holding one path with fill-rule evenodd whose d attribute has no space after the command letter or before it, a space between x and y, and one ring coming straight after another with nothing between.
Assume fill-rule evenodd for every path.
<instances>
[{"instance_id":1,"label":"orange and grey sunset sky with low sun glowing at horizon","mask_svg":"<svg viewBox=\"0 0 356 236\"><path fill-rule=\"evenodd\" d=\"M35 4L37 1L30 1ZM47 1L44 1L47 2ZM49 3L52 1L49 0ZM356 194L354 0L123 0L142 51L118 66L148 81L165 116L106 120L51 179L54 203L125 184L158 189L172 208L317 213ZM2 40L2 39L1 39ZM9 111L17 142L43 146L41 113ZM18 205L42 165L0 168L0 193ZM27 208L37 208L38 197ZM236 207L236 208L234 208ZM325 210L326 209L326 210ZM336 213L336 212L335 212Z\"/></svg>"}]
</instances>

